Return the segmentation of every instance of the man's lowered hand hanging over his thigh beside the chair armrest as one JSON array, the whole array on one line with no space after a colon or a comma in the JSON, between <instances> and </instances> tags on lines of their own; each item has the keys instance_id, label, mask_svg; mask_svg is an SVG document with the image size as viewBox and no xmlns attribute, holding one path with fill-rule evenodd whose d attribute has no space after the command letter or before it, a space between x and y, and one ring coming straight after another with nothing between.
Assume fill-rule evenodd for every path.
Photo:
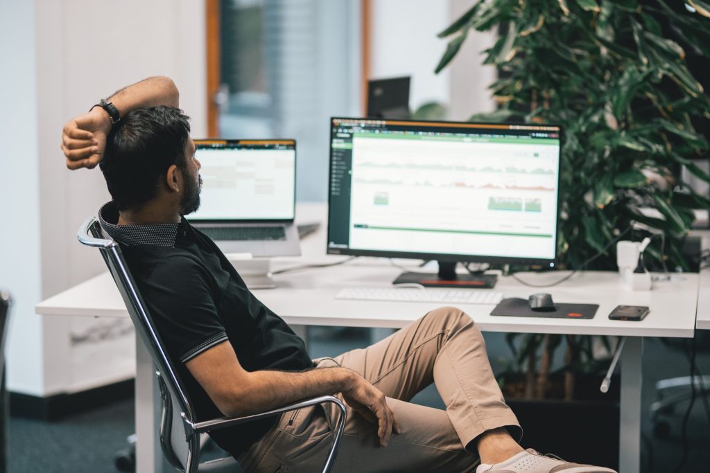
<instances>
[{"instance_id":1,"label":"man's lowered hand hanging over his thigh beside the chair armrest","mask_svg":"<svg viewBox=\"0 0 710 473\"><path fill-rule=\"evenodd\" d=\"M342 391L345 402L371 423L377 423L377 436L380 445L386 447L390 441L392 430L400 433L400 425L391 408L387 405L385 395L363 377L357 376L351 389Z\"/></svg>"}]
</instances>

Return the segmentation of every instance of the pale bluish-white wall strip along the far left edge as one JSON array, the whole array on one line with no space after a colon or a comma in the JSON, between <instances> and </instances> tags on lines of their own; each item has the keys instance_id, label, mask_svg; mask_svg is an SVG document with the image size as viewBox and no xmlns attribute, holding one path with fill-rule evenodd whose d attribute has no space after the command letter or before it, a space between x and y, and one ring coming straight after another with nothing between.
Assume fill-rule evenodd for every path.
<instances>
[{"instance_id":1,"label":"pale bluish-white wall strip along the far left edge","mask_svg":"<svg viewBox=\"0 0 710 473\"><path fill-rule=\"evenodd\" d=\"M35 5L0 1L0 286L11 291L7 355L10 386L39 394L42 386L40 183L35 93ZM55 133L56 136L56 133Z\"/></svg>"}]
</instances>

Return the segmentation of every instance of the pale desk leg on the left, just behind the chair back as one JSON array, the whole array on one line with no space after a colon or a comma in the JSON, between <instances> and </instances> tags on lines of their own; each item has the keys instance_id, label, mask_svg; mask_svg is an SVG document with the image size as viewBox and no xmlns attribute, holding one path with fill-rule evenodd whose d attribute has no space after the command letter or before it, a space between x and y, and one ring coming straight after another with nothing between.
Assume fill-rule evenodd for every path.
<instances>
[{"instance_id":1,"label":"pale desk leg on the left, just behind the chair back","mask_svg":"<svg viewBox=\"0 0 710 473\"><path fill-rule=\"evenodd\" d=\"M168 471L158 441L160 392L153 360L136 338L136 472Z\"/></svg>"}]
</instances>

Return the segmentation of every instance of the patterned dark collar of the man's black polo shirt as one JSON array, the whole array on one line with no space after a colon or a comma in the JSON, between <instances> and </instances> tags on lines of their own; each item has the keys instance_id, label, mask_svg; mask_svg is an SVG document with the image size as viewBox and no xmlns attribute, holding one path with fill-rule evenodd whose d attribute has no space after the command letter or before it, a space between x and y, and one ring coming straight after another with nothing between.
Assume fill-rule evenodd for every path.
<instances>
[{"instance_id":1,"label":"patterned dark collar of the man's black polo shirt","mask_svg":"<svg viewBox=\"0 0 710 473\"><path fill-rule=\"evenodd\" d=\"M124 245L155 245L175 247L178 230L187 226L182 218L180 223L155 223L151 225L119 225L119 209L114 201L99 208L99 223L111 238Z\"/></svg>"}]
</instances>

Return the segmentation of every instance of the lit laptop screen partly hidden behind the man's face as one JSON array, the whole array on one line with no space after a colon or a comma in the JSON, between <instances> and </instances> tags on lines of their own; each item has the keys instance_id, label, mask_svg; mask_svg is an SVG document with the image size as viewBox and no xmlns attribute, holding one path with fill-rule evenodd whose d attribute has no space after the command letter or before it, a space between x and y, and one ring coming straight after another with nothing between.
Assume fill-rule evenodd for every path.
<instances>
[{"instance_id":1,"label":"lit laptop screen partly hidden behind the man's face","mask_svg":"<svg viewBox=\"0 0 710 473\"><path fill-rule=\"evenodd\" d=\"M293 220L295 140L195 140L200 209L190 221Z\"/></svg>"}]
</instances>

